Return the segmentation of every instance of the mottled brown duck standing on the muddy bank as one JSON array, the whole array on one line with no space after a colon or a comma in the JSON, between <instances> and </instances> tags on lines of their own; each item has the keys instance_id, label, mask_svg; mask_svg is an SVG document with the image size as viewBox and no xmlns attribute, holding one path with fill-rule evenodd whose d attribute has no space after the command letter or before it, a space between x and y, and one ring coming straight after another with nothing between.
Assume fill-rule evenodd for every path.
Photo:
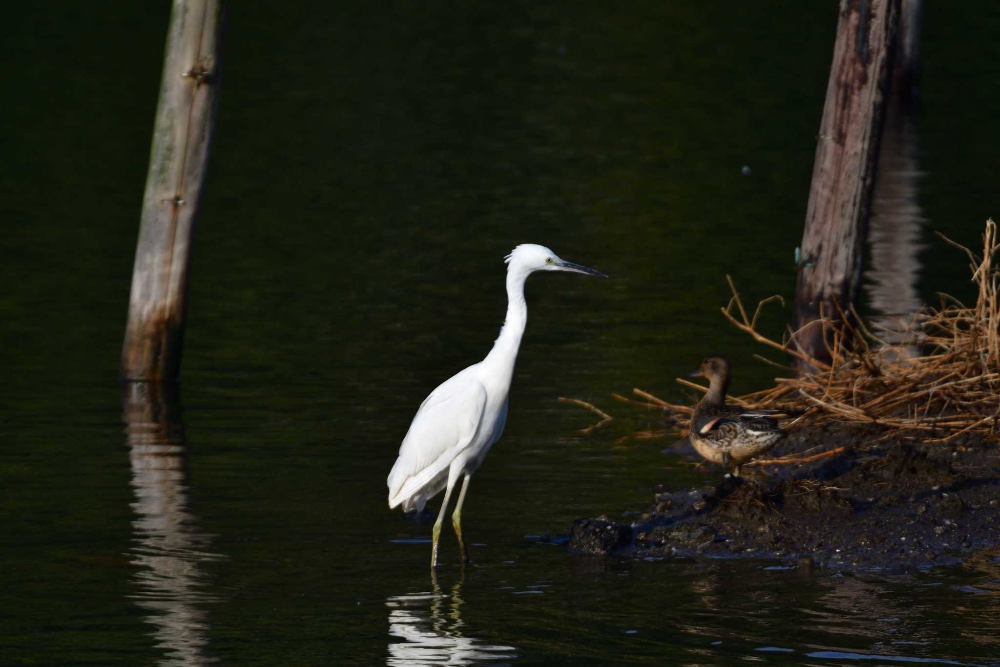
<instances>
[{"instance_id":1,"label":"mottled brown duck standing on the muddy bank","mask_svg":"<svg viewBox=\"0 0 1000 667\"><path fill-rule=\"evenodd\" d=\"M770 415L780 410L747 410L726 405L726 391L732 379L729 360L720 355L705 357L701 368L689 377L708 378L708 391L691 415L688 438L706 461L721 463L734 474L740 465L760 456L786 435Z\"/></svg>"}]
</instances>

